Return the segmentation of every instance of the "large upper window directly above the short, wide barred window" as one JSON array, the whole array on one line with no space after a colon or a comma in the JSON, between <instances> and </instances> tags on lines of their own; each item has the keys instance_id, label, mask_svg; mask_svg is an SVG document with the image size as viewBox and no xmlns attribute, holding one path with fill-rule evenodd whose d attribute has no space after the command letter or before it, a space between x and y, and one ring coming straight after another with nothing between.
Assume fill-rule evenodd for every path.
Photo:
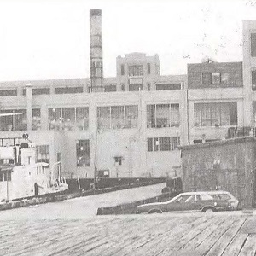
<instances>
[{"instance_id":1,"label":"large upper window directly above the short, wide barred window","mask_svg":"<svg viewBox=\"0 0 256 256\"><path fill-rule=\"evenodd\" d=\"M178 127L179 125L179 104L157 104L147 106L148 128Z\"/></svg>"}]
</instances>

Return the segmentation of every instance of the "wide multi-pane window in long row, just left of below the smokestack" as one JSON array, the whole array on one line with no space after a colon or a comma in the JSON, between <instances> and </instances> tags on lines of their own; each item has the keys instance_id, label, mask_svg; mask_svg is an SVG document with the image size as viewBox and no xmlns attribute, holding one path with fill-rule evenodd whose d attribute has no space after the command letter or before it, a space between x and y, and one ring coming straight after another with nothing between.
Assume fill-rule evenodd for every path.
<instances>
[{"instance_id":1,"label":"wide multi-pane window in long row, just left of below the smokestack","mask_svg":"<svg viewBox=\"0 0 256 256\"><path fill-rule=\"evenodd\" d=\"M49 130L86 130L89 108L49 108Z\"/></svg>"}]
</instances>

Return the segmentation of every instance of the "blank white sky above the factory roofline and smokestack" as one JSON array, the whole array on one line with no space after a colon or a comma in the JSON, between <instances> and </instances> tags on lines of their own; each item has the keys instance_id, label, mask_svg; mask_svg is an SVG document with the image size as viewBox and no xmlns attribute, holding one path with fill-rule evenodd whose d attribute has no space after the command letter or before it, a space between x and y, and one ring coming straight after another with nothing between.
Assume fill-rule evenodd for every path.
<instances>
[{"instance_id":1,"label":"blank white sky above the factory roofline and smokestack","mask_svg":"<svg viewBox=\"0 0 256 256\"><path fill-rule=\"evenodd\" d=\"M0 81L89 77L90 9L102 9L105 77L131 52L160 55L164 75L242 61L241 21L256 20L256 0L0 0Z\"/></svg>"}]
</instances>

